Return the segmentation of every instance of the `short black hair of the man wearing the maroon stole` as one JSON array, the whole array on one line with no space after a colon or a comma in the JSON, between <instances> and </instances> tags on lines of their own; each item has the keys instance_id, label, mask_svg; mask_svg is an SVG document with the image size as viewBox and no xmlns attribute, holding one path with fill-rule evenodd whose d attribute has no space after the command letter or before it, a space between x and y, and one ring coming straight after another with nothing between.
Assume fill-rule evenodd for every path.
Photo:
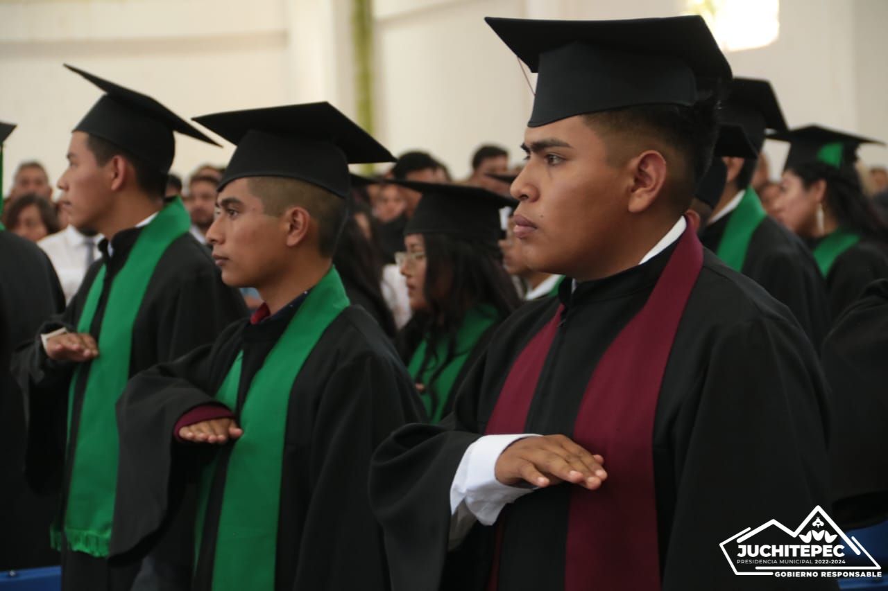
<instances>
[{"instance_id":1,"label":"short black hair of the man wearing the maroon stole","mask_svg":"<svg viewBox=\"0 0 888 591\"><path fill-rule=\"evenodd\" d=\"M649 141L652 145L646 149L676 154L681 160L678 169L683 169L683 173L671 178L667 190L676 209L685 211L697 182L712 162L718 137L717 107L718 93L713 93L694 106L629 106L584 117L591 128L601 131L606 138L613 135Z\"/></svg>"}]
</instances>

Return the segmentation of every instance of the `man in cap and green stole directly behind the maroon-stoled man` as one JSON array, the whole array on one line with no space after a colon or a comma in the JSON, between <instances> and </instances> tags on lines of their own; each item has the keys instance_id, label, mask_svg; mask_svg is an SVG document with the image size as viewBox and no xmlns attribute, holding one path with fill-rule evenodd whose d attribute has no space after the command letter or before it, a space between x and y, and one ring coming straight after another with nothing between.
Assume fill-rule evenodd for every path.
<instances>
[{"instance_id":1,"label":"man in cap and green stole directly behind the maroon-stoled man","mask_svg":"<svg viewBox=\"0 0 888 591\"><path fill-rule=\"evenodd\" d=\"M829 330L826 287L811 252L768 217L752 185L765 130L786 130L771 83L734 78L723 109L725 122L741 125L755 154L725 158L725 185L700 240L734 271L755 280L789 307L815 349Z\"/></svg>"}]
</instances>

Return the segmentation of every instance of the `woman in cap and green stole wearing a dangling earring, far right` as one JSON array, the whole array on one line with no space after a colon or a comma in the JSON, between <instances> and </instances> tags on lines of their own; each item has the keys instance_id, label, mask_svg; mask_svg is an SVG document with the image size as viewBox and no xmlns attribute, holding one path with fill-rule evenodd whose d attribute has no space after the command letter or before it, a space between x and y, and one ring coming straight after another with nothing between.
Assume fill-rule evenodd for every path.
<instances>
[{"instance_id":1,"label":"woman in cap and green stole wearing a dangling earring, far right","mask_svg":"<svg viewBox=\"0 0 888 591\"><path fill-rule=\"evenodd\" d=\"M888 278L888 225L854 167L860 145L883 143L817 125L769 138L789 142L773 215L811 246L835 322L869 283Z\"/></svg>"}]
</instances>

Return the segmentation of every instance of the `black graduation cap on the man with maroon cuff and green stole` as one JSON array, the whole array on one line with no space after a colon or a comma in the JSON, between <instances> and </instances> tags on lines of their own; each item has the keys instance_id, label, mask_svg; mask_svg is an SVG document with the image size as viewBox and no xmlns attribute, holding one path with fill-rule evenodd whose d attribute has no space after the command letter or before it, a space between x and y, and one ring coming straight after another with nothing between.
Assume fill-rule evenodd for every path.
<instances>
[{"instance_id":1,"label":"black graduation cap on the man with maroon cuff and green stole","mask_svg":"<svg viewBox=\"0 0 888 591\"><path fill-rule=\"evenodd\" d=\"M219 189L237 178L296 178L343 199L349 164L393 162L394 156L328 102L272 106L194 117L237 145Z\"/></svg>"}]
</instances>

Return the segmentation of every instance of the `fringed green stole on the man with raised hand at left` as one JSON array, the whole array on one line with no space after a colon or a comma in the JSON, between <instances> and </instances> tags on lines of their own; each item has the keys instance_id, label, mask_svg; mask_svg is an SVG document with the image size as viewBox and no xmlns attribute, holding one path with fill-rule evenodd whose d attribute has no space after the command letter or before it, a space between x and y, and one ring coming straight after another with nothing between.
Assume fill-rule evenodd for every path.
<instances>
[{"instance_id":1,"label":"fringed green stole on the man with raised hand at left","mask_svg":"<svg viewBox=\"0 0 888 591\"><path fill-rule=\"evenodd\" d=\"M68 433L75 384L87 372L77 437L72 449L71 482L63 529L69 548L91 556L107 556L117 486L117 421L115 405L130 376L132 326L151 276L173 240L188 232L191 220L182 201L170 201L140 233L123 268L108 289L99 331L99 357L76 367L68 388ZM102 265L83 305L77 332L88 333L106 280ZM70 439L70 437L68 437ZM59 547L59 532L53 540Z\"/></svg>"}]
</instances>

